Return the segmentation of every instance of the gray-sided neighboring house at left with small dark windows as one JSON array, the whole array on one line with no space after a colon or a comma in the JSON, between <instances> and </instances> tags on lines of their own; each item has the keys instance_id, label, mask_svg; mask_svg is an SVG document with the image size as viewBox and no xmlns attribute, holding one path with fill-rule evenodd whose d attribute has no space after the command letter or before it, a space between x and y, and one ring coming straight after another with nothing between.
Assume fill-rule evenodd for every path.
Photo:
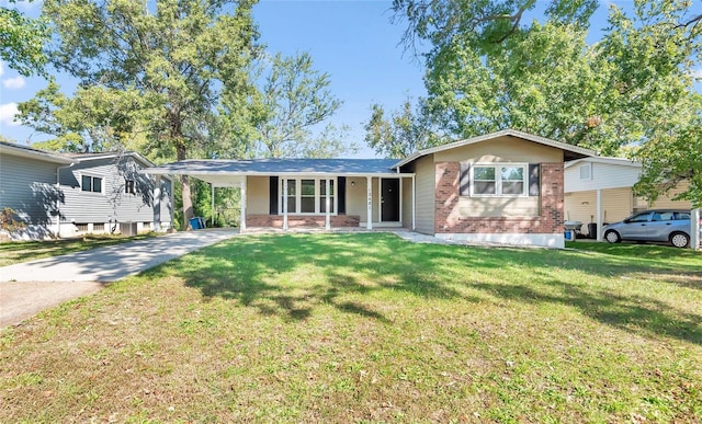
<instances>
[{"instance_id":1,"label":"gray-sided neighboring house at left with small dark windows","mask_svg":"<svg viewBox=\"0 0 702 424\"><path fill-rule=\"evenodd\" d=\"M56 154L0 144L0 207L27 224L18 239L162 231L172 222L168 177L136 152Z\"/></svg>"}]
</instances>

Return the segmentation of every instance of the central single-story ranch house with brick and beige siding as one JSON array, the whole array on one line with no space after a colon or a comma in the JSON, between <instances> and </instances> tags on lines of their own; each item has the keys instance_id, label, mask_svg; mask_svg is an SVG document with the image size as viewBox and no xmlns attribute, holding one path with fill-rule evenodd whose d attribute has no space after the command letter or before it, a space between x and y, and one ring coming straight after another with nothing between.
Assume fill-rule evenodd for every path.
<instances>
[{"instance_id":1,"label":"central single-story ranch house with brick and beige siding","mask_svg":"<svg viewBox=\"0 0 702 424\"><path fill-rule=\"evenodd\" d=\"M241 188L241 229L405 227L444 239L564 247L564 161L595 154L502 130L404 160L185 160L144 170Z\"/></svg>"}]
</instances>

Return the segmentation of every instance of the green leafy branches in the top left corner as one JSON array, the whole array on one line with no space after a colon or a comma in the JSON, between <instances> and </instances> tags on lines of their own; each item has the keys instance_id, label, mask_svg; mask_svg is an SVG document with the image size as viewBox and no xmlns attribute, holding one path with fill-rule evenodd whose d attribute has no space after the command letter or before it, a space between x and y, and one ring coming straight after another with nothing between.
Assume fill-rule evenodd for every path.
<instances>
[{"instance_id":1,"label":"green leafy branches in the top left corner","mask_svg":"<svg viewBox=\"0 0 702 424\"><path fill-rule=\"evenodd\" d=\"M14 4L16 0L8 2ZM10 68L24 77L42 73L46 64L42 49L47 38L43 20L27 18L13 8L0 7L0 59Z\"/></svg>"}]
</instances>

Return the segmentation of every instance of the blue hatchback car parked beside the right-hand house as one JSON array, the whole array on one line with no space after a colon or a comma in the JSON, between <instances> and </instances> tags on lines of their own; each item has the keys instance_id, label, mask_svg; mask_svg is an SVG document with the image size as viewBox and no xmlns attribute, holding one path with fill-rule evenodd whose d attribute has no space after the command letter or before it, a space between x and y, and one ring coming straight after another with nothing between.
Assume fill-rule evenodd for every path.
<instances>
[{"instance_id":1,"label":"blue hatchback car parked beside the right-hand house","mask_svg":"<svg viewBox=\"0 0 702 424\"><path fill-rule=\"evenodd\" d=\"M639 211L623 221L608 224L603 230L604 240L610 243L619 243L622 240L655 241L667 242L676 248L687 248L690 245L690 210ZM702 229L700 237L702 237Z\"/></svg>"}]
</instances>

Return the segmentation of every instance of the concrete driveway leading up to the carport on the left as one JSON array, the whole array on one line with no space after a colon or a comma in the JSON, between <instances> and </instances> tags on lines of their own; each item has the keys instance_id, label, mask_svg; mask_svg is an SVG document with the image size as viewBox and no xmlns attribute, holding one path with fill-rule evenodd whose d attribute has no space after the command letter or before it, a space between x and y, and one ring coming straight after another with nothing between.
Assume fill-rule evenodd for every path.
<instances>
[{"instance_id":1,"label":"concrete driveway leading up to the carport on the left","mask_svg":"<svg viewBox=\"0 0 702 424\"><path fill-rule=\"evenodd\" d=\"M230 229L178 232L0 267L0 326L237 233Z\"/></svg>"}]
</instances>

